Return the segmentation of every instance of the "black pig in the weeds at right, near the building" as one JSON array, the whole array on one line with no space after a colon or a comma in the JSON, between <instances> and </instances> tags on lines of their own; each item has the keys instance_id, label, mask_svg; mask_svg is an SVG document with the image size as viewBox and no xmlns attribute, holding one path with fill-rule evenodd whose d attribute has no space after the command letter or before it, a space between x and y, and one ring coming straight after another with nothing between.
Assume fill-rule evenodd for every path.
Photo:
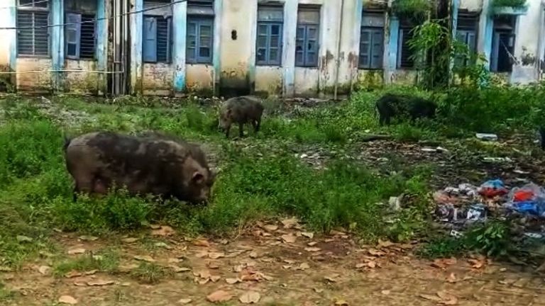
<instances>
[{"instance_id":1,"label":"black pig in the weeds at right, near the building","mask_svg":"<svg viewBox=\"0 0 545 306\"><path fill-rule=\"evenodd\" d=\"M413 123L417 118L434 118L437 106L424 98L385 94L378 99L376 108L380 125L390 125L390 118L399 115L409 115Z\"/></svg>"}]
</instances>

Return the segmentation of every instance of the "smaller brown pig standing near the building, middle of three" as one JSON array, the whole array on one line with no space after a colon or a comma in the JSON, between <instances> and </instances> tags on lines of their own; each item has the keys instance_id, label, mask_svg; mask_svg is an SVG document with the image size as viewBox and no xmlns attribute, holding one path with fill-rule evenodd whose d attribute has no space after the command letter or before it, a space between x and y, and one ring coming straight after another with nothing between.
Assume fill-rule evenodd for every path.
<instances>
[{"instance_id":1,"label":"smaller brown pig standing near the building, middle of three","mask_svg":"<svg viewBox=\"0 0 545 306\"><path fill-rule=\"evenodd\" d=\"M261 125L261 115L263 115L263 104L255 96L238 96L230 98L224 102L219 111L220 130L225 131L225 136L229 138L229 130L233 123L238 123L238 135L243 137L243 125L251 123L255 133L259 131Z\"/></svg>"}]
</instances>

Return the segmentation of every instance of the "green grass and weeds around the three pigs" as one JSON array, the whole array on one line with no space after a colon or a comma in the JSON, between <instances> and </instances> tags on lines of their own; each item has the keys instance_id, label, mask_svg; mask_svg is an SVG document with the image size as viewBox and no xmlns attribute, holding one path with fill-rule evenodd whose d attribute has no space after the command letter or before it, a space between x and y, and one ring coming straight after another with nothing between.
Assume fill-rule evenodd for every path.
<instances>
[{"instance_id":1,"label":"green grass and weeds around the three pigs","mask_svg":"<svg viewBox=\"0 0 545 306\"><path fill-rule=\"evenodd\" d=\"M386 91L431 96L413 87ZM388 133L400 142L415 142L474 132L529 130L539 123L545 91L541 84L477 92L455 88L439 95L438 120L379 127L374 101L384 92L362 91L349 101L309 109L268 101L262 130L253 135L246 127L248 137L239 141L226 140L216 130L216 108L194 101L123 97L89 102L53 97L53 106L72 111L67 118L57 118L60 112L44 112L32 98L7 96L0 100L0 264L18 267L40 251L54 249L49 238L54 227L115 234L165 222L188 235L221 236L255 220L297 215L315 231L344 227L365 241L378 237L406 241L426 235L430 169L406 166L394 158L387 164L391 169L377 169L348 159L345 153L367 133ZM62 156L63 137L94 130L159 130L205 143L222 169L211 203L206 208L177 202L158 205L150 198L129 197L123 191L101 199L82 196L72 203L72 180ZM295 148L300 156L301 148L313 147L336 152L334 160L319 171L294 156ZM471 150L475 144L467 147ZM501 148L485 145L478 149L501 153ZM414 205L390 212L388 198L401 193L414 195ZM32 241L19 242L17 235ZM448 244L437 245L439 251L431 253L449 248ZM102 264L84 258L59 263L58 270L62 273L68 268Z\"/></svg>"}]
</instances>

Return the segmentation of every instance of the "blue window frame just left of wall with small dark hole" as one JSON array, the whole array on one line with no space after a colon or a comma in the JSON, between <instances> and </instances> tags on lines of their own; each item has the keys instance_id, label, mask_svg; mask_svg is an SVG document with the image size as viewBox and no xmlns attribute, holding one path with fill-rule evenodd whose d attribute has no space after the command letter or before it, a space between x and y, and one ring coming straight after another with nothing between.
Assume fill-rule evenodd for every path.
<instances>
[{"instance_id":1,"label":"blue window frame just left of wall with small dark hole","mask_svg":"<svg viewBox=\"0 0 545 306\"><path fill-rule=\"evenodd\" d=\"M187 16L187 34L186 34L186 47L185 47L185 62L187 64L212 64L214 61L214 16L207 15L189 15ZM194 23L195 32L194 35L189 34L189 23ZM209 56L204 57L200 55L201 44L201 26L210 27L210 42L207 46L209 48ZM195 37L195 46L189 47L189 36ZM190 51L190 49L193 49ZM189 54L193 53L192 57Z\"/></svg>"}]
</instances>

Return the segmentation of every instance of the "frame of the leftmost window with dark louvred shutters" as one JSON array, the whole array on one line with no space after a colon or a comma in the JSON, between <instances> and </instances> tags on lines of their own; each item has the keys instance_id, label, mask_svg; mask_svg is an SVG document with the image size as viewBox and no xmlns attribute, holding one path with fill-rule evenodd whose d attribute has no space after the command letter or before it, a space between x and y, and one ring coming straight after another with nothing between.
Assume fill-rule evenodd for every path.
<instances>
[{"instance_id":1,"label":"frame of the leftmost window with dark louvred shutters","mask_svg":"<svg viewBox=\"0 0 545 306\"><path fill-rule=\"evenodd\" d=\"M16 8L16 56L17 57L36 57L36 58L50 58L51 57L51 27L50 27L50 24L51 24L51 13L50 13L50 0L48 0L47 2L43 2L45 4L45 7L43 6L36 6L35 2L37 1L42 1L42 0L32 0L32 5L28 5L28 4L21 4L21 0L18 0L16 3L17 3L17 8ZM26 28L26 29L21 29L19 27L22 27L20 26L20 21L19 21L19 12L21 13L31 13L31 18L32 18L32 27L33 28ZM36 13L47 13L47 29L46 29L46 32L47 32L47 49L48 49L48 52L47 54L36 54L36 28L35 28L35 19L36 19ZM20 45L20 39L19 39L19 35L21 34L21 30L31 30L31 35L32 35L32 54L21 54L21 50L19 49Z\"/></svg>"}]
</instances>

